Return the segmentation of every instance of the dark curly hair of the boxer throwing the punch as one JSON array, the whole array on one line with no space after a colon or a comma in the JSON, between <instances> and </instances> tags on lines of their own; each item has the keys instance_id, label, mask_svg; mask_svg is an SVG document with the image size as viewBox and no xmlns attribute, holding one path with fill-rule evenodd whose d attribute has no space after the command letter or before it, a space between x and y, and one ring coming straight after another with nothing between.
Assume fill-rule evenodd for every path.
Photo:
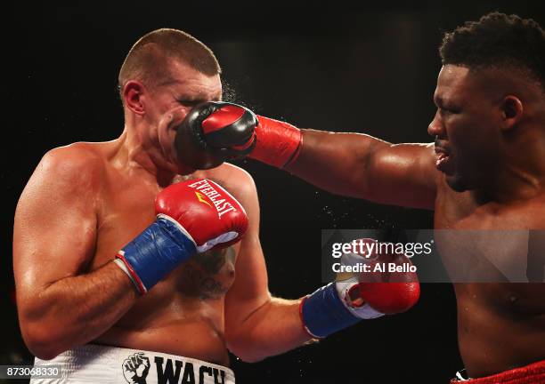
<instances>
[{"instance_id":1,"label":"dark curly hair of the boxer throwing the punch","mask_svg":"<svg viewBox=\"0 0 545 384\"><path fill-rule=\"evenodd\" d=\"M545 32L532 19L488 13L446 33L439 53L443 65L518 69L545 90Z\"/></svg>"}]
</instances>

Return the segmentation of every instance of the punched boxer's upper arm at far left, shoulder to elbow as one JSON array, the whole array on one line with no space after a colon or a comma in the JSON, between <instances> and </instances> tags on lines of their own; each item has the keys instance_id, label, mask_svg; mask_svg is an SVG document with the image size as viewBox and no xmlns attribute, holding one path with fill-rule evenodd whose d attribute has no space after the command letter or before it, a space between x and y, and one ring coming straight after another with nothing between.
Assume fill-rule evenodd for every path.
<instances>
[{"instance_id":1,"label":"punched boxer's upper arm at far left, shoulder to elbow","mask_svg":"<svg viewBox=\"0 0 545 384\"><path fill-rule=\"evenodd\" d=\"M20 196L13 231L18 300L81 273L93 257L96 175L93 164L74 152L60 148L45 155Z\"/></svg>"}]
</instances>

